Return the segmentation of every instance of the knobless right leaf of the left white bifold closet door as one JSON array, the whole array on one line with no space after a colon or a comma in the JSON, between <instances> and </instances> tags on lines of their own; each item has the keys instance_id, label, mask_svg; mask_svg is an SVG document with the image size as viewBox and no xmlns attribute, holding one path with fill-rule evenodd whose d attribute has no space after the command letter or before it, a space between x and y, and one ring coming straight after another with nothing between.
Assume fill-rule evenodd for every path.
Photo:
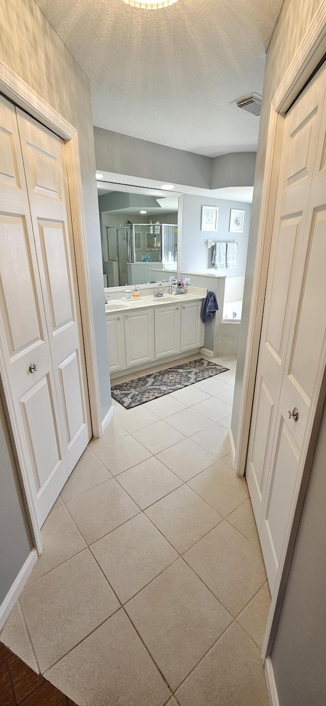
<instances>
[{"instance_id":1,"label":"knobless right leaf of the left white bifold closet door","mask_svg":"<svg viewBox=\"0 0 326 706\"><path fill-rule=\"evenodd\" d=\"M63 141L17 109L68 474L92 436Z\"/></svg>"}]
</instances>

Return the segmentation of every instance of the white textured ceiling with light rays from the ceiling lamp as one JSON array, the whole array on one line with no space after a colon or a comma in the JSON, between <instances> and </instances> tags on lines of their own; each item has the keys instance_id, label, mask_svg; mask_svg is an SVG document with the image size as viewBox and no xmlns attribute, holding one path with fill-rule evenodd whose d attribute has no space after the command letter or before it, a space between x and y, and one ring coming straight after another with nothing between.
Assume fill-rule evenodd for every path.
<instances>
[{"instance_id":1,"label":"white textured ceiling with light rays from the ceiling lamp","mask_svg":"<svg viewBox=\"0 0 326 706\"><path fill-rule=\"evenodd\" d=\"M254 151L258 118L231 101L262 92L282 0L36 0L90 78L94 124L215 157Z\"/></svg>"}]
</instances>

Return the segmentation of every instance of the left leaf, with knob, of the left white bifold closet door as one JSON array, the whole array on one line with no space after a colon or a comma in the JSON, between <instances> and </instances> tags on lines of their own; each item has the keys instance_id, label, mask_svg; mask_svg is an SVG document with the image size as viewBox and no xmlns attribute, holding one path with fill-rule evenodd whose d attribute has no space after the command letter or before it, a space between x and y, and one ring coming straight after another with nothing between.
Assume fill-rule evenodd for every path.
<instances>
[{"instance_id":1,"label":"left leaf, with knob, of the left white bifold closet door","mask_svg":"<svg viewBox=\"0 0 326 706\"><path fill-rule=\"evenodd\" d=\"M0 336L40 526L67 468L15 108L0 96ZM30 364L38 370L32 372Z\"/></svg>"}]
</instances>

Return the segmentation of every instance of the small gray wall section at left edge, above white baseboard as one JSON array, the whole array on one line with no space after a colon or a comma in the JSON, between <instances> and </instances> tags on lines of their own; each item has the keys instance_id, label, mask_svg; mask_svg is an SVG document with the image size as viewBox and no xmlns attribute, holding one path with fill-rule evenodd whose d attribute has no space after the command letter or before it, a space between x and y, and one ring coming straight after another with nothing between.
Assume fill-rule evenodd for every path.
<instances>
[{"instance_id":1,"label":"small gray wall section at left edge, above white baseboard","mask_svg":"<svg viewBox=\"0 0 326 706\"><path fill-rule=\"evenodd\" d=\"M0 390L0 605L32 549Z\"/></svg>"}]
</instances>

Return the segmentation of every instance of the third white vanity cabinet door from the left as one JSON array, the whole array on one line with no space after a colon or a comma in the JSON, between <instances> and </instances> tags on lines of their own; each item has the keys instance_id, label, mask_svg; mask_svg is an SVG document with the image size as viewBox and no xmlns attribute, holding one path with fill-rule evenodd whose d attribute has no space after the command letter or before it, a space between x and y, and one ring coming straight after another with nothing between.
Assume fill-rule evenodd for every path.
<instances>
[{"instance_id":1,"label":"third white vanity cabinet door from the left","mask_svg":"<svg viewBox=\"0 0 326 706\"><path fill-rule=\"evenodd\" d=\"M180 306L155 309L155 358L180 353Z\"/></svg>"}]
</instances>

